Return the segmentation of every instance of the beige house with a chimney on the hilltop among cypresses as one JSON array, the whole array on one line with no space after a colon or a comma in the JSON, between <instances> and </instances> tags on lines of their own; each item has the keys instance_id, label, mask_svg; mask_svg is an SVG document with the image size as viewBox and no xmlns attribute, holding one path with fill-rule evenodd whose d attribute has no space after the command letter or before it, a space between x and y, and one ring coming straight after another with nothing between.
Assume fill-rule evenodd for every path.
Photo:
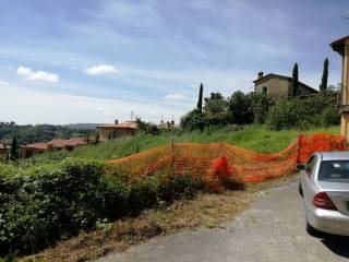
<instances>
[{"instance_id":1,"label":"beige house with a chimney on the hilltop among cypresses","mask_svg":"<svg viewBox=\"0 0 349 262\"><path fill-rule=\"evenodd\" d=\"M292 83L292 78L269 73L264 75L263 72L258 72L257 79L253 81L254 83L254 93L265 94L273 97L287 96L289 88ZM299 82L299 96L306 96L311 94L316 94L318 91L313 87Z\"/></svg>"}]
</instances>

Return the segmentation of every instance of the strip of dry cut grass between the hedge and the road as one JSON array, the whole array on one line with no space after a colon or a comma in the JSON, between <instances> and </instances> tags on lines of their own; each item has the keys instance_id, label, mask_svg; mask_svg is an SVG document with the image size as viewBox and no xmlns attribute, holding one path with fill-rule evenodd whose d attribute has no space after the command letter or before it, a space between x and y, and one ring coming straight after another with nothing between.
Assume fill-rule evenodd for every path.
<instances>
[{"instance_id":1,"label":"strip of dry cut grass between the hedge and the road","mask_svg":"<svg viewBox=\"0 0 349 262\"><path fill-rule=\"evenodd\" d=\"M83 233L61 241L56 247L19 261L73 261L82 262L121 252L159 235L184 228L224 227L261 195L261 192L290 183L297 176L287 176L261 183L250 183L245 190L225 191L220 194L198 194L194 200L176 201L161 210L145 211L136 218L100 224L97 230Z\"/></svg>"}]
</instances>

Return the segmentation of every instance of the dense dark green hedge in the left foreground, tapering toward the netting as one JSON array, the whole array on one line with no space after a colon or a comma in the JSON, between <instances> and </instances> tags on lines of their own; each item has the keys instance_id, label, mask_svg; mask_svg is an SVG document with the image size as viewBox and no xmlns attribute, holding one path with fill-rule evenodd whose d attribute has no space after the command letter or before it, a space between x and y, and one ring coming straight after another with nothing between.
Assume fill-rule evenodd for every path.
<instances>
[{"instance_id":1,"label":"dense dark green hedge in the left foreground, tapering toward the netting","mask_svg":"<svg viewBox=\"0 0 349 262\"><path fill-rule=\"evenodd\" d=\"M128 184L105 169L76 159L27 169L0 166L0 257L35 253L94 229L98 221L137 215L203 188L190 175L156 175Z\"/></svg>"}]
</instances>

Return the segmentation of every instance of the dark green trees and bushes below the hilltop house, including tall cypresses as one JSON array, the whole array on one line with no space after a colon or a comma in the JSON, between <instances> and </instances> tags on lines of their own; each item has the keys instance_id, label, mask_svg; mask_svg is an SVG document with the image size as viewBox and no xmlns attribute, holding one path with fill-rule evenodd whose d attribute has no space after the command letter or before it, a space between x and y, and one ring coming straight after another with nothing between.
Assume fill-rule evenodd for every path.
<instances>
[{"instance_id":1,"label":"dark green trees and bushes below the hilltop house, including tall cypresses","mask_svg":"<svg viewBox=\"0 0 349 262\"><path fill-rule=\"evenodd\" d=\"M299 96L298 64L292 72L288 96L270 97L267 94L234 92L230 97L210 93L203 110L198 107L181 118L183 130L209 129L227 124L268 123L272 130L308 129L338 124L336 93L327 88L328 60L324 62L321 93ZM200 88L202 96L202 85ZM198 102L202 97L198 97ZM200 103L198 103L200 104Z\"/></svg>"}]
</instances>

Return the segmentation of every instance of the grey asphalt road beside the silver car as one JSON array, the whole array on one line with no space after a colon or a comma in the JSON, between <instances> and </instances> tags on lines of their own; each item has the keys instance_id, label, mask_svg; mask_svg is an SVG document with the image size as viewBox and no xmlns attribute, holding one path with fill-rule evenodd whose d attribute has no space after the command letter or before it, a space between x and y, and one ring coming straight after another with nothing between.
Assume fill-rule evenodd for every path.
<instances>
[{"instance_id":1,"label":"grey asphalt road beside the silver car","mask_svg":"<svg viewBox=\"0 0 349 262\"><path fill-rule=\"evenodd\" d=\"M225 228L197 228L157 237L100 262L349 261L349 239L311 237L297 183L262 193Z\"/></svg>"}]
</instances>

